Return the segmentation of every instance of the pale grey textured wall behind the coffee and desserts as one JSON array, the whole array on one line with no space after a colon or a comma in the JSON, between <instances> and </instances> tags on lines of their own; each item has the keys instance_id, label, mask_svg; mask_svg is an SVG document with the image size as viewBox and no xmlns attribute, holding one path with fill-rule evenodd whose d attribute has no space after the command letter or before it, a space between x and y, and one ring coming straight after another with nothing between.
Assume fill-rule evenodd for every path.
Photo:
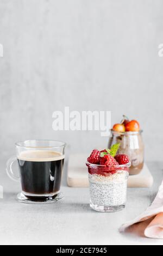
<instances>
[{"instance_id":1,"label":"pale grey textured wall behind the coffee and desserts","mask_svg":"<svg viewBox=\"0 0 163 256\"><path fill-rule=\"evenodd\" d=\"M106 144L99 132L54 132L52 113L109 110L140 121L146 158L162 159L161 0L0 0L1 156L14 142Z\"/></svg>"}]
</instances>

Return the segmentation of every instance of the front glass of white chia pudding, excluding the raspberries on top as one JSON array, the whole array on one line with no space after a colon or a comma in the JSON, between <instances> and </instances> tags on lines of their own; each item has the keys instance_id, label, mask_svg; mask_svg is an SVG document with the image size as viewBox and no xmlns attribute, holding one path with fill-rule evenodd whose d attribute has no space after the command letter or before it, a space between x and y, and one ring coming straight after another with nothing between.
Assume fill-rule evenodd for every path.
<instances>
[{"instance_id":1,"label":"front glass of white chia pudding, excluding the raspberries on top","mask_svg":"<svg viewBox=\"0 0 163 256\"><path fill-rule=\"evenodd\" d=\"M126 206L131 163L105 166L86 162L89 172L90 207L96 211L120 211Z\"/></svg>"}]
</instances>

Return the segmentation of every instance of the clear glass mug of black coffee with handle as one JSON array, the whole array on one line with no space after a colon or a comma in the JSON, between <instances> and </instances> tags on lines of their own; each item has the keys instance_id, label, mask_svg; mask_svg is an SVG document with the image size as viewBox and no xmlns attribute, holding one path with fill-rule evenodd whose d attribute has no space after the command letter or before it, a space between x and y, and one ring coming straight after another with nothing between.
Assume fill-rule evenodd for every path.
<instances>
[{"instance_id":1,"label":"clear glass mug of black coffee with handle","mask_svg":"<svg viewBox=\"0 0 163 256\"><path fill-rule=\"evenodd\" d=\"M21 181L22 192L17 199L24 203L52 203L63 198L60 192L65 143L50 140L17 142L16 156L7 162L7 174ZM19 175L12 170L18 162Z\"/></svg>"}]
</instances>

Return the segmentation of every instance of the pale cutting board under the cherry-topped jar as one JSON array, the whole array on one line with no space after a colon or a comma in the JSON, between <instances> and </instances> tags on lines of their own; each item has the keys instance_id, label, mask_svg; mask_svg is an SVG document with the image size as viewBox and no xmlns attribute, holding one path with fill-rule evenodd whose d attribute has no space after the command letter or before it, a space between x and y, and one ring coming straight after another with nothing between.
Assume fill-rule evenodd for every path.
<instances>
[{"instance_id":1,"label":"pale cutting board under the cherry-topped jar","mask_svg":"<svg viewBox=\"0 0 163 256\"><path fill-rule=\"evenodd\" d=\"M70 155L67 171L67 184L70 187L88 187L88 172L85 165L86 154ZM146 164L137 175L129 175L128 187L151 187L153 184L152 174Z\"/></svg>"}]
</instances>

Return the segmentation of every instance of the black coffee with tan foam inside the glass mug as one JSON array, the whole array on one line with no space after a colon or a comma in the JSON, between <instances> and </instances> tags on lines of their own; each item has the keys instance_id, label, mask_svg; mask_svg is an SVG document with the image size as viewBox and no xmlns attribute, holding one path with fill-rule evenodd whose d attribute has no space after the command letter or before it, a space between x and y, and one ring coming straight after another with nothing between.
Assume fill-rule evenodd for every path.
<instances>
[{"instance_id":1,"label":"black coffee with tan foam inside the glass mug","mask_svg":"<svg viewBox=\"0 0 163 256\"><path fill-rule=\"evenodd\" d=\"M64 155L55 151L23 151L17 160L23 192L40 196L59 192Z\"/></svg>"}]
</instances>

